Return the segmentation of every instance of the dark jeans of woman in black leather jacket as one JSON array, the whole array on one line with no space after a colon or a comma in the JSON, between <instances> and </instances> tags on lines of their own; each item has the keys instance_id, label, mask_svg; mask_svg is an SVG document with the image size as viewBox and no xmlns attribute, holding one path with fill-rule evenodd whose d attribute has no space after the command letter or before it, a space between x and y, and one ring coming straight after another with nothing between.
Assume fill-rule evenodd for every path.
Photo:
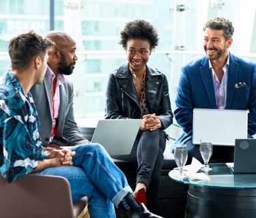
<instances>
[{"instance_id":1,"label":"dark jeans of woman in black leather jacket","mask_svg":"<svg viewBox=\"0 0 256 218\"><path fill-rule=\"evenodd\" d=\"M138 164L137 183L147 185L147 208L152 213L160 213L159 189L162 170L163 153L166 139L161 129L145 130L138 134L130 155L115 155L117 159L124 159Z\"/></svg>"}]
</instances>

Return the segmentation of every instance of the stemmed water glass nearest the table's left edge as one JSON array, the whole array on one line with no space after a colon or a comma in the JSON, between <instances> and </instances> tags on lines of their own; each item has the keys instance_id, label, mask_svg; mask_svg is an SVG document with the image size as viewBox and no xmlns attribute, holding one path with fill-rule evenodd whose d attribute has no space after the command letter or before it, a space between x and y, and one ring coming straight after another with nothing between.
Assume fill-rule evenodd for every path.
<instances>
[{"instance_id":1,"label":"stemmed water glass nearest the table's left edge","mask_svg":"<svg viewBox=\"0 0 256 218\"><path fill-rule=\"evenodd\" d=\"M186 161L188 159L188 149L186 144L176 144L174 151L174 159L175 163L177 164L177 167L179 168L179 174L177 174L176 177L183 179L183 167L185 166Z\"/></svg>"}]
</instances>

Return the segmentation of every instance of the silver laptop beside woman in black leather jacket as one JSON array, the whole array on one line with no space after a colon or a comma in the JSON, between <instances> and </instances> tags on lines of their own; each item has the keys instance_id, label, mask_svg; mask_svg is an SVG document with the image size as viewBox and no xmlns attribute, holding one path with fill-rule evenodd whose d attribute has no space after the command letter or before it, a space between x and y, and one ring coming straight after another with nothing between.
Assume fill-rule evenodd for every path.
<instances>
[{"instance_id":1,"label":"silver laptop beside woman in black leather jacket","mask_svg":"<svg viewBox=\"0 0 256 218\"><path fill-rule=\"evenodd\" d=\"M91 142L102 144L109 155L130 155L140 125L141 119L100 120Z\"/></svg>"}]
</instances>

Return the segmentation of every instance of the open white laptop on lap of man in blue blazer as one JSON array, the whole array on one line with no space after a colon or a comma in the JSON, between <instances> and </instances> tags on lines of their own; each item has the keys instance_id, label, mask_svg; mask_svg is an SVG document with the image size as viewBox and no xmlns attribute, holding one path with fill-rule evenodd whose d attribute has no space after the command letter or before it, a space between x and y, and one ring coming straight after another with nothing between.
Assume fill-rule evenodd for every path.
<instances>
[{"instance_id":1,"label":"open white laptop on lap of man in blue blazer","mask_svg":"<svg viewBox=\"0 0 256 218\"><path fill-rule=\"evenodd\" d=\"M213 145L234 146L236 138L247 138L247 132L247 110L193 110L193 144L210 138Z\"/></svg>"}]
</instances>

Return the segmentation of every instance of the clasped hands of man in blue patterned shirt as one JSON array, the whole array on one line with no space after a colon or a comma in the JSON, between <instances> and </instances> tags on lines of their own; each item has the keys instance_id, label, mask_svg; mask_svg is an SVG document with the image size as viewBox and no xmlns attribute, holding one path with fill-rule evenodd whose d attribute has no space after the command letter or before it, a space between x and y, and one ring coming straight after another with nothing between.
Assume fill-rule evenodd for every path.
<instances>
[{"instance_id":1,"label":"clasped hands of man in blue patterned shirt","mask_svg":"<svg viewBox=\"0 0 256 218\"><path fill-rule=\"evenodd\" d=\"M51 147L45 147L44 153L47 159L51 159L54 166L72 166L72 157L76 154L75 151L68 149L55 149Z\"/></svg>"}]
</instances>

